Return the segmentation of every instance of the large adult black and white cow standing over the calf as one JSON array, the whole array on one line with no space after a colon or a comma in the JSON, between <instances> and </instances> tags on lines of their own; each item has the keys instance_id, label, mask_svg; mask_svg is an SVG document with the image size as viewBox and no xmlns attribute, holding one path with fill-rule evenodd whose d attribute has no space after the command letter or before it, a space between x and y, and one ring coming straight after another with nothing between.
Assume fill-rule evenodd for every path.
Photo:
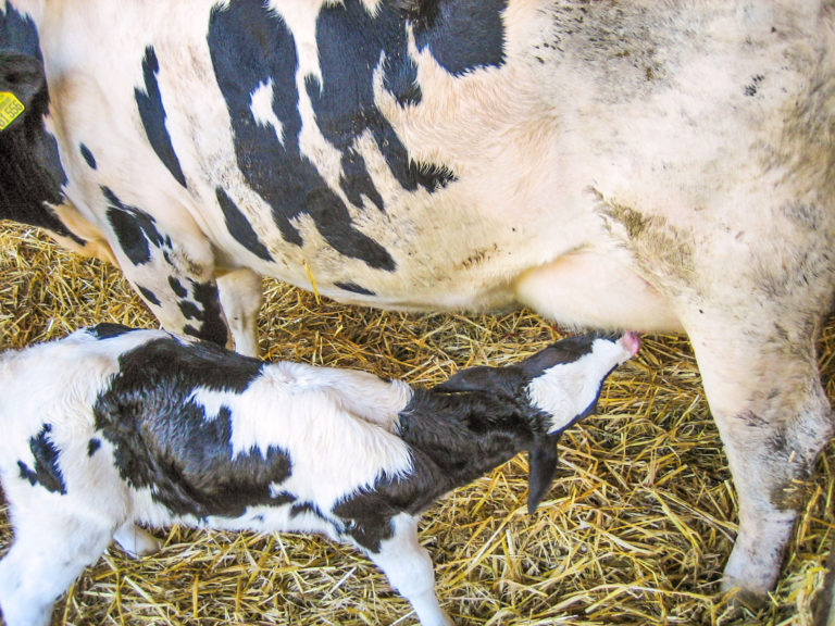
<instances>
[{"instance_id":1,"label":"large adult black and white cow standing over the calf","mask_svg":"<svg viewBox=\"0 0 835 626\"><path fill-rule=\"evenodd\" d=\"M775 585L833 433L832 0L0 0L0 211L257 352L342 301L684 330Z\"/></svg>"}]
</instances>

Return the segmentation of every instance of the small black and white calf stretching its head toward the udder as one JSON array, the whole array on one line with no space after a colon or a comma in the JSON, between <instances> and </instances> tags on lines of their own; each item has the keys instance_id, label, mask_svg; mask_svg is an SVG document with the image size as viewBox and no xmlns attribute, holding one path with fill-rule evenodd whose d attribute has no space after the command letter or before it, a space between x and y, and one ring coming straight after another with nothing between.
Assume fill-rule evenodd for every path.
<instances>
[{"instance_id":1,"label":"small black and white calf stretching its head toward the udder","mask_svg":"<svg viewBox=\"0 0 835 626\"><path fill-rule=\"evenodd\" d=\"M419 543L437 498L529 451L528 509L557 439L594 410L631 334L583 336L431 389L269 364L160 330L100 325L0 355L0 472L14 543L0 562L8 626L51 608L134 523L321 533L369 555L421 624L449 624Z\"/></svg>"}]
</instances>

